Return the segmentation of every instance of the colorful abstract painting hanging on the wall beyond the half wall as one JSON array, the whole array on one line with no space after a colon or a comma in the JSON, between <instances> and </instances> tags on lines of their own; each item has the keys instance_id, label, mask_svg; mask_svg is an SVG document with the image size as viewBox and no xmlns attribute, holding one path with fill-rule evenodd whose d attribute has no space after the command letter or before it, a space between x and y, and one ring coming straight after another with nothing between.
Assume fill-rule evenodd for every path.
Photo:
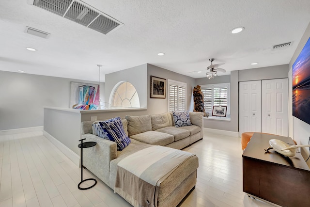
<instances>
[{"instance_id":1,"label":"colorful abstract painting hanging on the wall beyond the half wall","mask_svg":"<svg viewBox=\"0 0 310 207\"><path fill-rule=\"evenodd\" d=\"M70 108L99 109L99 89L98 84L70 82Z\"/></svg>"}]
</instances>

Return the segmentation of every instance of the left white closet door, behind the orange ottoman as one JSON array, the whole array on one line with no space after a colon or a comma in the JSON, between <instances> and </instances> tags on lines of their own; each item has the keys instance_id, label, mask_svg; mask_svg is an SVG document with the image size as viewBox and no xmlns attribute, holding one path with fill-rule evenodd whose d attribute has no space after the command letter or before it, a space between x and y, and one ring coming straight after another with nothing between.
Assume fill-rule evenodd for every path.
<instances>
[{"instance_id":1,"label":"left white closet door, behind the orange ottoman","mask_svg":"<svg viewBox=\"0 0 310 207\"><path fill-rule=\"evenodd\" d=\"M261 132L261 80L239 82L239 136Z\"/></svg>"}]
</instances>

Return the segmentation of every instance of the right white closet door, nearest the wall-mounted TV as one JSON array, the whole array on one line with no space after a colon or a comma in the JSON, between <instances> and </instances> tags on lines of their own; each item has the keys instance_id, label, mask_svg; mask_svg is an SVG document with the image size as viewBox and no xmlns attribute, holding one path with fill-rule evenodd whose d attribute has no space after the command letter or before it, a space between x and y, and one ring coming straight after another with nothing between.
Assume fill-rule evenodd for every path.
<instances>
[{"instance_id":1,"label":"right white closet door, nearest the wall-mounted TV","mask_svg":"<svg viewBox=\"0 0 310 207\"><path fill-rule=\"evenodd\" d=\"M288 136L288 80L262 80L262 132Z\"/></svg>"}]
</instances>

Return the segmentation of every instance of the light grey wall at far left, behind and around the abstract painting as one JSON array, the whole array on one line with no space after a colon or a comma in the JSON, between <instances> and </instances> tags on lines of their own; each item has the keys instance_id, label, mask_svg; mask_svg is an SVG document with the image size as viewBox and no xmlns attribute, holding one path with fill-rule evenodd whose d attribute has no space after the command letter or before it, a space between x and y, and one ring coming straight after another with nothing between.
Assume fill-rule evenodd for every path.
<instances>
[{"instance_id":1,"label":"light grey wall at far left, behind and around the abstract painting","mask_svg":"<svg viewBox=\"0 0 310 207\"><path fill-rule=\"evenodd\" d=\"M43 107L69 108L71 81L97 83L0 71L0 130L43 126Z\"/></svg>"}]
</instances>

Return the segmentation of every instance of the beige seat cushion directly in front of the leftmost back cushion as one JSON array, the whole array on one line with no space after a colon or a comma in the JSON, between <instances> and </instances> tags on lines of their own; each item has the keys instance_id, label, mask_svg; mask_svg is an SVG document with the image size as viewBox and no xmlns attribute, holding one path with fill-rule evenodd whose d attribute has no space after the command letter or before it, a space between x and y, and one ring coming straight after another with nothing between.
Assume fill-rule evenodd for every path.
<instances>
[{"instance_id":1,"label":"beige seat cushion directly in front of the leftmost back cushion","mask_svg":"<svg viewBox=\"0 0 310 207\"><path fill-rule=\"evenodd\" d=\"M173 143L174 136L159 131L145 131L140 134L130 136L131 139L138 140L143 143L165 146Z\"/></svg>"}]
</instances>

